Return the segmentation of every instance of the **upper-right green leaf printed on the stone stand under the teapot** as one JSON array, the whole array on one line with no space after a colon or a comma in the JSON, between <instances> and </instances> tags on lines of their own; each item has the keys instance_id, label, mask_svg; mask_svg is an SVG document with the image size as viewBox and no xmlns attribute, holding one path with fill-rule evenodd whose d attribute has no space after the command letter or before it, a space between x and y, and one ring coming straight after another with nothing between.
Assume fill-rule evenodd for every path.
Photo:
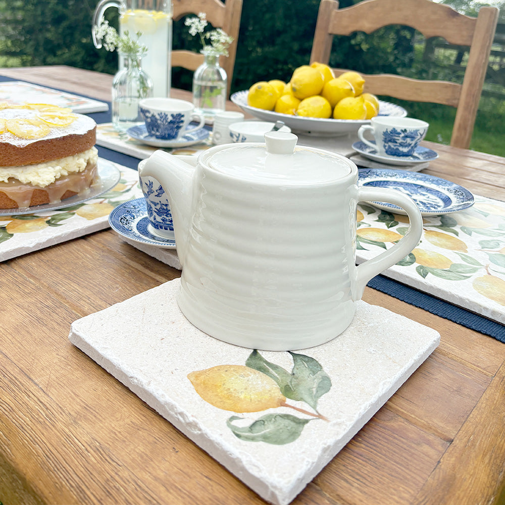
<instances>
[{"instance_id":1,"label":"upper-right green leaf printed on the stone stand under the teapot","mask_svg":"<svg viewBox=\"0 0 505 505\"><path fill-rule=\"evenodd\" d=\"M293 357L293 371L284 396L305 401L317 412L317 402L331 388L331 379L317 360L289 351ZM291 391L289 391L291 388ZM289 394L288 394L289 393Z\"/></svg>"}]
</instances>

